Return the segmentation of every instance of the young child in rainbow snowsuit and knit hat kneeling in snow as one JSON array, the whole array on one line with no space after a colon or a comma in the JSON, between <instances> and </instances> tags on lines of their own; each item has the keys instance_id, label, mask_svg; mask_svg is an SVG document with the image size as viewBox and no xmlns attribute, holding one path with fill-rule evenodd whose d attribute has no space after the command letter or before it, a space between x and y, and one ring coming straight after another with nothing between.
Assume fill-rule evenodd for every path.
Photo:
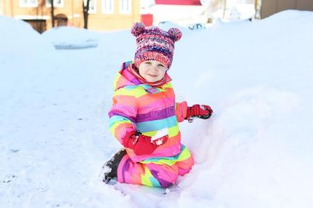
<instances>
[{"instance_id":1,"label":"young child in rainbow snowsuit and knit hat kneeling in snow","mask_svg":"<svg viewBox=\"0 0 313 208\"><path fill-rule=\"evenodd\" d=\"M109 128L124 146L104 165L104 182L168 187L193 166L193 157L181 144L179 122L193 117L209 119L208 105L175 103L168 69L174 43L182 37L178 28L163 31L136 23L134 62L125 62L115 78Z\"/></svg>"}]
</instances>

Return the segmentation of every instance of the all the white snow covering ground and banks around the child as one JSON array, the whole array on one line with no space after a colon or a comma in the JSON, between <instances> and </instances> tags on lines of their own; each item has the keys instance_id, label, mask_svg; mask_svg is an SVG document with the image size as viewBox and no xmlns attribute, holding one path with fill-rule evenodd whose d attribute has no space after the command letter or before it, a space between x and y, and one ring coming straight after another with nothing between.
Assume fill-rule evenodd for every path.
<instances>
[{"instance_id":1,"label":"all the white snow covering ground and banks around the child","mask_svg":"<svg viewBox=\"0 0 313 208\"><path fill-rule=\"evenodd\" d=\"M0 207L312 207L313 12L184 31L169 71L177 101L214 115L180 124L195 166L166 195L98 176L120 148L107 113L134 55L129 31L55 50L22 21L0 23Z\"/></svg>"}]
</instances>

